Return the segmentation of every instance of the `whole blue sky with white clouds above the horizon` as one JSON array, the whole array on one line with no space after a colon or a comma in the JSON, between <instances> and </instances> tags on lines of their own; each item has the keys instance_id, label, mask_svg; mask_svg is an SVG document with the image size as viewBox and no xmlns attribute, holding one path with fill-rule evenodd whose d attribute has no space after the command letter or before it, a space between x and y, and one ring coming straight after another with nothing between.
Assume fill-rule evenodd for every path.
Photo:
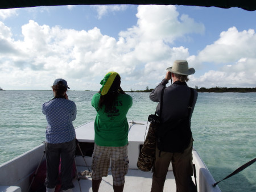
<instances>
[{"instance_id":1,"label":"whole blue sky with white clouds above the horizon","mask_svg":"<svg viewBox=\"0 0 256 192\"><path fill-rule=\"evenodd\" d=\"M0 87L155 88L175 60L196 70L188 86L256 87L256 11L197 6L49 6L0 10ZM167 84L167 86L169 86Z\"/></svg>"}]
</instances>

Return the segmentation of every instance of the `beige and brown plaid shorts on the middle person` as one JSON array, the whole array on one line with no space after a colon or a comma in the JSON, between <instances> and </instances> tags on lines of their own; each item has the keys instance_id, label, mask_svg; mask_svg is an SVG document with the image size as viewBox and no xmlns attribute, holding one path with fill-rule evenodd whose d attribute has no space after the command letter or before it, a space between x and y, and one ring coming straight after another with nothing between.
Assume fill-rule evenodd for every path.
<instances>
[{"instance_id":1,"label":"beige and brown plaid shorts on the middle person","mask_svg":"<svg viewBox=\"0 0 256 192\"><path fill-rule=\"evenodd\" d=\"M127 145L123 147L103 147L95 144L92 160L92 179L100 180L102 177L108 176L110 160L113 185L123 185L129 166Z\"/></svg>"}]
</instances>

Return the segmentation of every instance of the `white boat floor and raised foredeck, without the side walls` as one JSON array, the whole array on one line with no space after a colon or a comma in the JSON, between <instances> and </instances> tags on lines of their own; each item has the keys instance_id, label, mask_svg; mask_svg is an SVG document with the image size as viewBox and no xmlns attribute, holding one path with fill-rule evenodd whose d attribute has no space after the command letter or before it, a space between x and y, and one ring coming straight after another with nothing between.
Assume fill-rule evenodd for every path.
<instances>
[{"instance_id":1,"label":"white boat floor and raised foredeck, without the side walls","mask_svg":"<svg viewBox=\"0 0 256 192\"><path fill-rule=\"evenodd\" d=\"M147 122L133 122L129 121L129 145L128 145L128 157L129 157L129 170L127 175L125 176L125 187L123 191L150 191L151 183L152 183L152 172L142 172L137 168L137 160L140 151L140 145L144 143L144 136L147 134L149 124ZM80 127L76 128L77 140L79 142L94 142L94 128L88 129L88 127L93 127L94 122L86 123ZM146 130L147 126L147 130ZM81 147L82 148L82 147ZM84 154L85 155L85 154ZM77 164L79 172L88 170L88 168L83 167L81 165L85 165L82 157L77 157ZM90 157L85 157L86 164L90 169L90 164L92 159ZM172 172L172 167L170 166L170 170L168 171L166 183L164 185L164 191L176 191L175 178ZM88 179L80 180L81 191L92 191L92 178L88 177ZM80 191L79 182L77 180L73 181L75 185L75 189L73 191ZM108 192L113 191L113 178L111 171L109 169L108 177L103 177L100 185L99 191Z\"/></svg>"}]
</instances>

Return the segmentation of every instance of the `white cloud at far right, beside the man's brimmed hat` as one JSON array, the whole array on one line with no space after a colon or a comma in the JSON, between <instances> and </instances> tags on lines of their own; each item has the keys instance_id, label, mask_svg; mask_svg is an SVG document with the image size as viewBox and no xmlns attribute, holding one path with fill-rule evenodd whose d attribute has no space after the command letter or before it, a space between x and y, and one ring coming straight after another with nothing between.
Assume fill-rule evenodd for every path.
<instances>
[{"instance_id":1,"label":"white cloud at far right, beside the man's brimmed hat","mask_svg":"<svg viewBox=\"0 0 256 192\"><path fill-rule=\"evenodd\" d=\"M191 57L197 68L218 66L195 80L199 87L255 87L256 85L256 34L254 30L238 31L231 27L220 38L207 45L198 56Z\"/></svg>"}]
</instances>

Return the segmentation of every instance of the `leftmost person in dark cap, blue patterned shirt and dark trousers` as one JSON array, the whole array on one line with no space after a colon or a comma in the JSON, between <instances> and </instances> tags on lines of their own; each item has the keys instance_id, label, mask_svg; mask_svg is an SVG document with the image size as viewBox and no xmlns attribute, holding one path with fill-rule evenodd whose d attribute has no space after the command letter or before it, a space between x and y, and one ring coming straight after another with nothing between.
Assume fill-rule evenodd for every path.
<instances>
[{"instance_id":1,"label":"leftmost person in dark cap, blue patterned shirt and dark trousers","mask_svg":"<svg viewBox=\"0 0 256 192\"><path fill-rule=\"evenodd\" d=\"M76 132L72 121L76 119L76 104L68 100L68 83L59 78L53 82L54 98L42 105L46 115L46 163L47 177L44 185L47 192L55 191L58 182L61 157L61 189L71 192L72 164L76 150Z\"/></svg>"}]
</instances>

